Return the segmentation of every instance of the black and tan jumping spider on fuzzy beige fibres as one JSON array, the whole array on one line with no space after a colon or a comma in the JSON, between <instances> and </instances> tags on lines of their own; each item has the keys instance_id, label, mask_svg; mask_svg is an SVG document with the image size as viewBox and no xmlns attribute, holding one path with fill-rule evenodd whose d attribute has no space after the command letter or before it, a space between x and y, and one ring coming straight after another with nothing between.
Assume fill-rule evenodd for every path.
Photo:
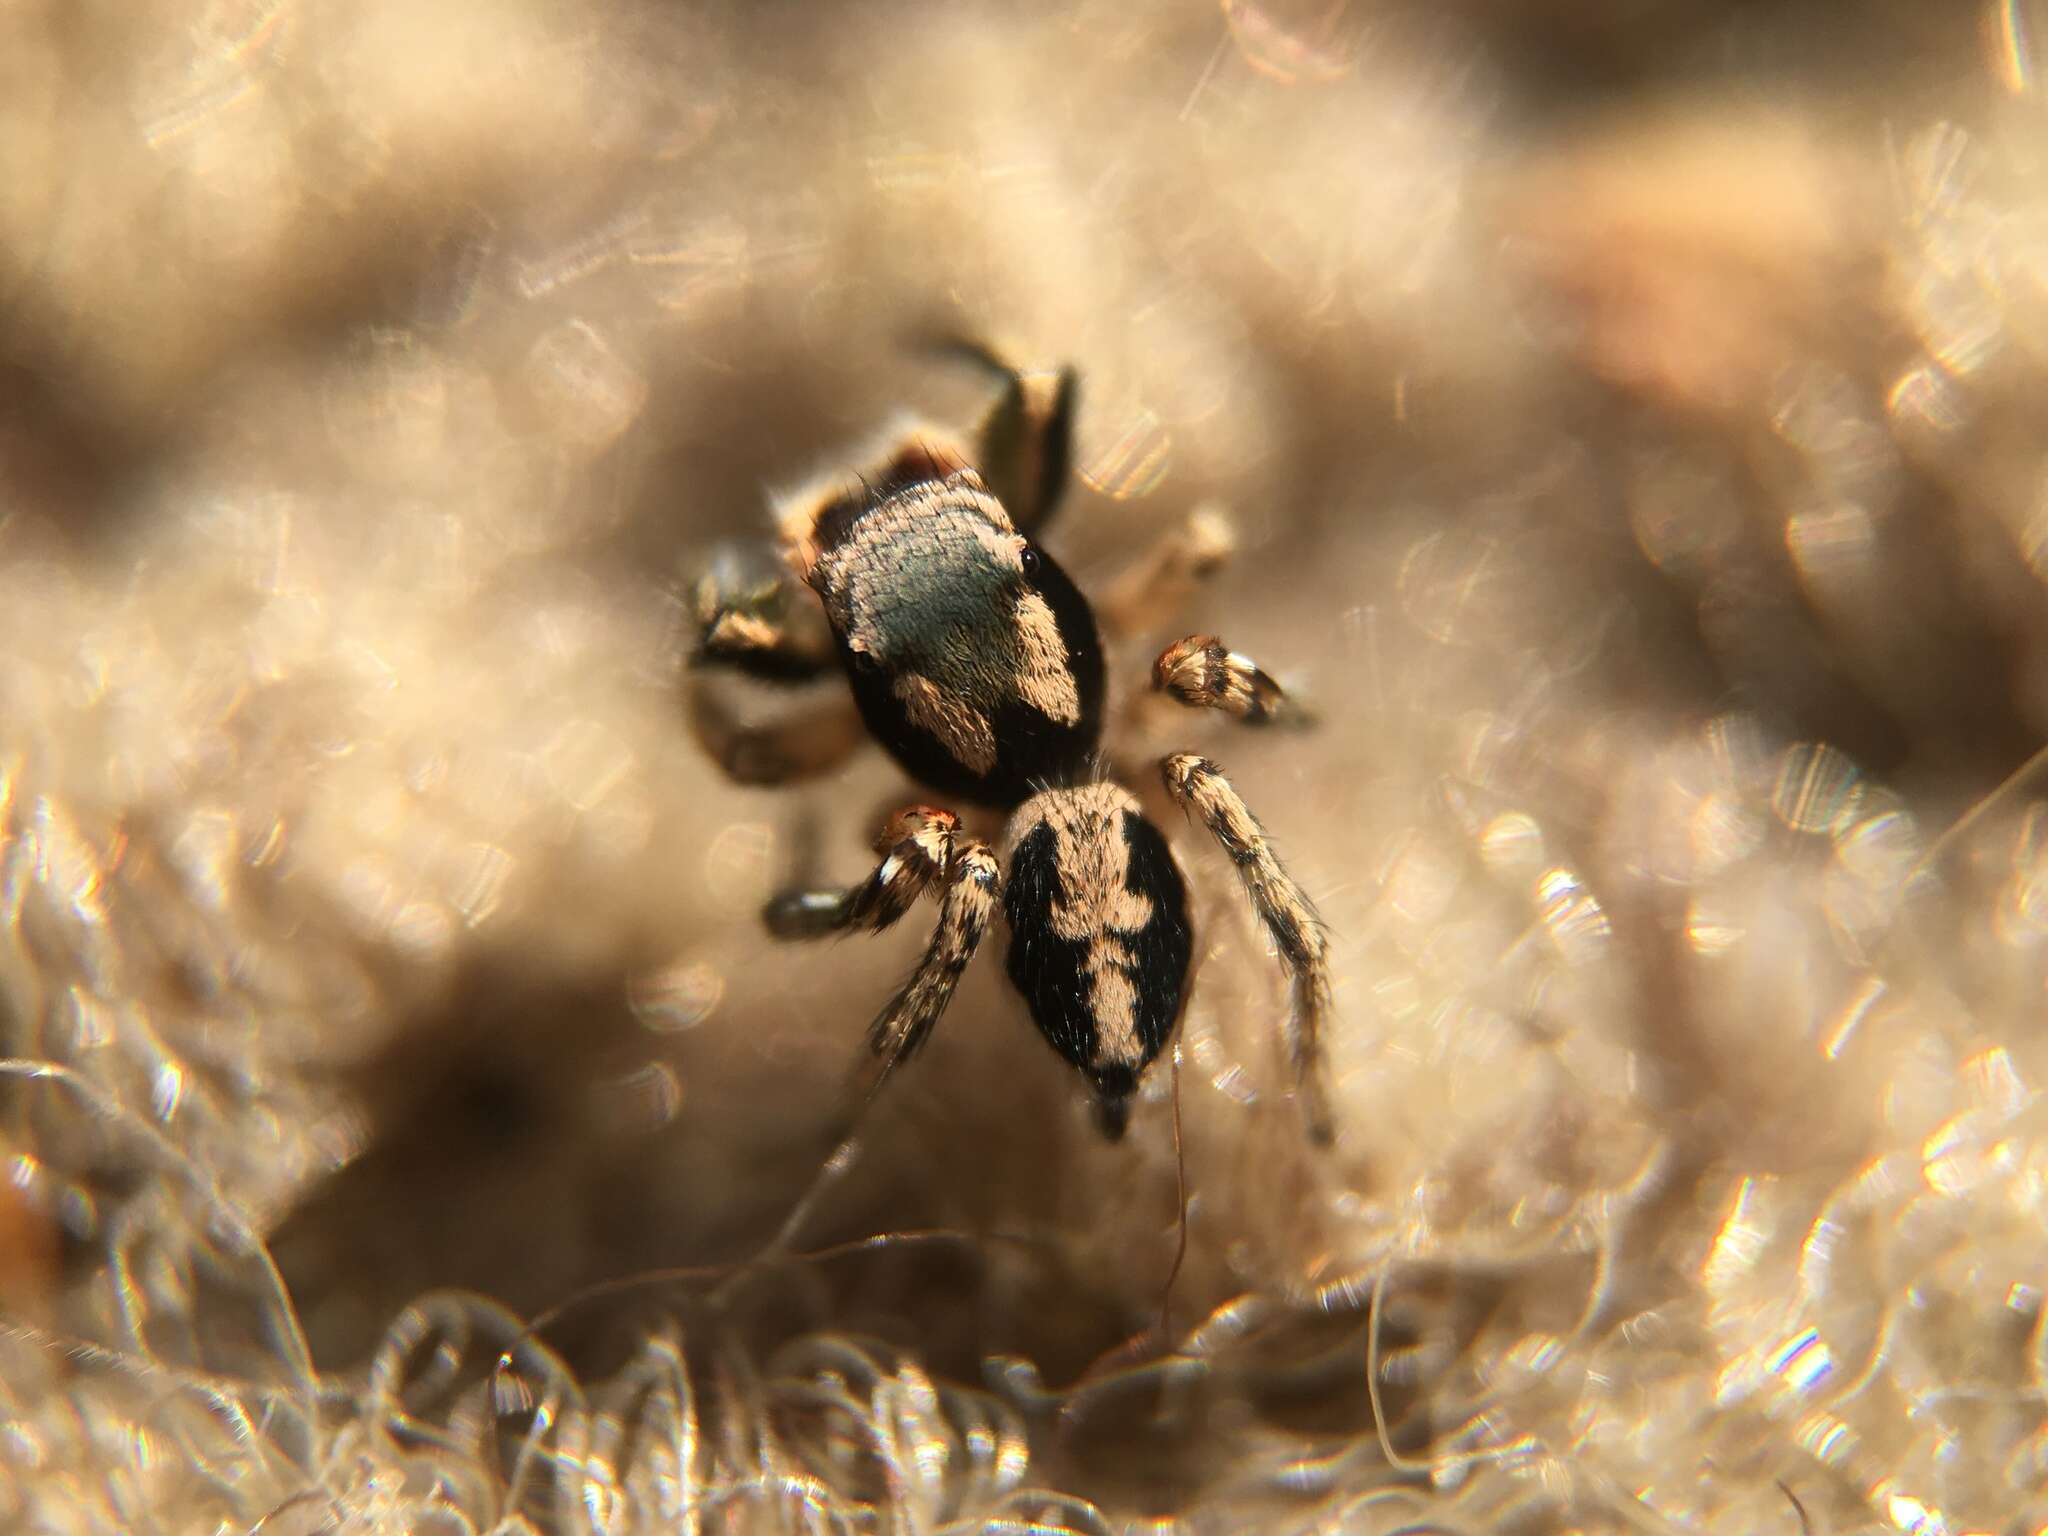
<instances>
[{"instance_id":1,"label":"black and tan jumping spider on fuzzy beige fibres","mask_svg":"<svg viewBox=\"0 0 2048 1536\"><path fill-rule=\"evenodd\" d=\"M768 903L774 936L815 938L881 932L920 895L936 897L924 958L868 1030L879 1057L870 1092L924 1044L999 903L1010 981L1047 1042L1087 1077L1098 1122L1116 1139L1139 1075L1186 1001L1186 887L1137 797L1106 776L1096 750L1106 713L1096 614L1036 543L1067 477L1075 377L963 350L1004 379L973 446L913 424L862 473L784 498L784 569L750 582L727 565L698 586L694 666L770 682L840 666L858 721L905 772L1010 813L997 856L952 811L899 811L864 881ZM1198 512L1110 592L1106 625L1126 633L1157 618L1227 553L1227 526ZM1294 713L1266 672L1206 635L1169 645L1153 686L1253 725ZM838 729L750 729L692 686L698 737L743 782L834 766L862 735L850 715L842 707ZM1159 770L1171 799L1231 856L1290 975L1288 1055L1309 1133L1327 1141L1317 1034L1329 975L1315 909L1214 762L1178 752Z\"/></svg>"}]
</instances>

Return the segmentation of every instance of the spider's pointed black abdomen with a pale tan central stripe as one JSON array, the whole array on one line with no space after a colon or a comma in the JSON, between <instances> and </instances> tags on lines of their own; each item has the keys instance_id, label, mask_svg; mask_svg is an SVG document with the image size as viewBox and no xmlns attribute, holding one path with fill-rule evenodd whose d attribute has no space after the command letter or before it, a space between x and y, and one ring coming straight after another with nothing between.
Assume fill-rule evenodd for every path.
<instances>
[{"instance_id":1,"label":"spider's pointed black abdomen with a pale tan central stripe","mask_svg":"<svg viewBox=\"0 0 2048 1536\"><path fill-rule=\"evenodd\" d=\"M1104 1130L1120 1135L1188 989L1188 893L1174 854L1128 791L1094 782L1018 807L1004 866L1010 981L1038 1032L1094 1083Z\"/></svg>"}]
</instances>

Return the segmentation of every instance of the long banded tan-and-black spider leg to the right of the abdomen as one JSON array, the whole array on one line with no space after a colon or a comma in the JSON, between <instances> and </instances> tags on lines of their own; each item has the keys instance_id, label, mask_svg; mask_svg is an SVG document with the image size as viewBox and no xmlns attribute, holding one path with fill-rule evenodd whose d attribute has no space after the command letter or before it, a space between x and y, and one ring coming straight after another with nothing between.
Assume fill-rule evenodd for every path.
<instances>
[{"instance_id":1,"label":"long banded tan-and-black spider leg to the right of the abdomen","mask_svg":"<svg viewBox=\"0 0 2048 1536\"><path fill-rule=\"evenodd\" d=\"M1327 1143L1331 1124L1321 1034L1323 1018L1329 1014L1329 940L1323 934L1323 920L1315 915L1315 905L1292 877L1280 868L1266 842L1266 829L1217 764L1192 752L1176 752L1159 764L1159 770L1167 795L1184 811L1200 817L1223 844L1237 866L1245 895L1251 897L1253 911L1280 950L1292 983L1286 1047L1296 1096L1311 1141Z\"/></svg>"}]
</instances>

